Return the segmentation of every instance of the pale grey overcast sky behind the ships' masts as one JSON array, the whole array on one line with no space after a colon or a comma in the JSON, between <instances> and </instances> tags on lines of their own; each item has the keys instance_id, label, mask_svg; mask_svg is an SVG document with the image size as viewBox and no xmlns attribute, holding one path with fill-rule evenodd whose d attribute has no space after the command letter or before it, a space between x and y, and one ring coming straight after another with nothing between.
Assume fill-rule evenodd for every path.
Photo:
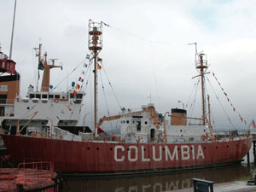
<instances>
[{"instance_id":1,"label":"pale grey overcast sky behind the ships' masts","mask_svg":"<svg viewBox=\"0 0 256 192\"><path fill-rule=\"evenodd\" d=\"M7 55L14 4L15 0L0 1L0 43ZM171 108L183 108L178 101L186 106L196 81L192 77L198 74L195 46L188 44L196 42L198 51L203 50L207 55L208 71L216 74L236 108L234 112L209 73L208 79L222 103L221 107L216 96L211 96L215 123L220 122L222 128L230 127L224 108L235 127L246 128L253 118L256 120L255 11L253 0L17 0L12 59L21 74L21 96L26 96L29 84L36 86L37 61L33 48L41 42L49 58L58 58L56 63L64 67L63 71L52 70L51 84L55 86L90 53L87 41L91 19L109 25L103 26L100 56L122 107L136 109L154 102L158 112L166 113ZM77 81L81 71L70 75L56 90L67 90L67 84ZM103 70L101 73L105 80ZM106 95L110 93L109 113L118 113L119 106L111 96L108 81L104 87ZM207 85L207 92L212 93L212 87ZM101 88L99 96L100 116L108 115ZM92 113L90 97L88 91L83 113ZM199 105L194 109L192 116L200 116L200 108ZM247 120L247 125L241 123L239 114Z\"/></svg>"}]
</instances>

